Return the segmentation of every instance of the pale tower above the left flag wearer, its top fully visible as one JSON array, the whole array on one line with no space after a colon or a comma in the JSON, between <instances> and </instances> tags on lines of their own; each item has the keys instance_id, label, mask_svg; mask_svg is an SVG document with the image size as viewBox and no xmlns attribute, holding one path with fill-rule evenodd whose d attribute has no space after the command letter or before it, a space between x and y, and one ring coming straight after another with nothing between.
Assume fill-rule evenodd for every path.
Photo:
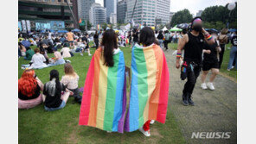
<instances>
[{"instance_id":1,"label":"pale tower above the left flag wearer, its top fully visible","mask_svg":"<svg viewBox=\"0 0 256 144\"><path fill-rule=\"evenodd\" d=\"M98 24L106 22L106 8L102 7L99 3L93 3L89 10L89 21L96 28Z\"/></svg>"}]
</instances>

